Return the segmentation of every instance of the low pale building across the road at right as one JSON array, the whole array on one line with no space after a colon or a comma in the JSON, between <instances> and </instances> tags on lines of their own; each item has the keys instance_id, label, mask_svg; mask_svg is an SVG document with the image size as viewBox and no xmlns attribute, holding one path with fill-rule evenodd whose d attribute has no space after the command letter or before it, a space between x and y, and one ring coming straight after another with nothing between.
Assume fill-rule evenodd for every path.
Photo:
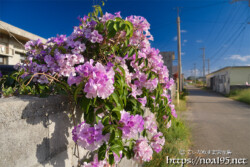
<instances>
[{"instance_id":1,"label":"low pale building across the road at right","mask_svg":"<svg viewBox=\"0 0 250 167\"><path fill-rule=\"evenodd\" d=\"M236 88L247 88L250 83L250 66L225 67L206 75L207 87L222 94Z\"/></svg>"}]
</instances>

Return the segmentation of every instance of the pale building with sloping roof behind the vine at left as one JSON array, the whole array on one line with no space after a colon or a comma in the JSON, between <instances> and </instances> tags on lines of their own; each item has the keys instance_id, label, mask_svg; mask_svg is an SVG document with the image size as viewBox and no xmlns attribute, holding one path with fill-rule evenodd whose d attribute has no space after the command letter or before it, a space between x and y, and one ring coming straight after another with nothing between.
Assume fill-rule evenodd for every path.
<instances>
[{"instance_id":1,"label":"pale building with sloping roof behind the vine at left","mask_svg":"<svg viewBox=\"0 0 250 167\"><path fill-rule=\"evenodd\" d=\"M22 44L38 38L46 42L42 37L0 21L0 65L15 65L26 58L24 47L11 34Z\"/></svg>"}]
</instances>

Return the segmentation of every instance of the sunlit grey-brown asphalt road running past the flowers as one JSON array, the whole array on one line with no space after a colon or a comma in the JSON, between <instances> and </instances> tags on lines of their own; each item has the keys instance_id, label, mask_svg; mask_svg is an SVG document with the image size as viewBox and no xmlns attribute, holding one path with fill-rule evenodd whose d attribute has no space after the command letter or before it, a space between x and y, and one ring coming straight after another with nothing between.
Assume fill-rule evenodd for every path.
<instances>
[{"instance_id":1,"label":"sunlit grey-brown asphalt road running past the flowers","mask_svg":"<svg viewBox=\"0 0 250 167\"><path fill-rule=\"evenodd\" d=\"M229 167L250 167L250 106L221 96L212 91L188 87L188 111L185 119L191 128L192 147L195 158L211 157L213 150L232 152L231 158L247 158L247 165L228 165ZM198 150L206 154L197 154ZM210 150L210 154L209 153ZM228 157L227 153L213 157ZM189 151L192 154L191 151ZM224 166L224 165L197 165Z\"/></svg>"}]
</instances>

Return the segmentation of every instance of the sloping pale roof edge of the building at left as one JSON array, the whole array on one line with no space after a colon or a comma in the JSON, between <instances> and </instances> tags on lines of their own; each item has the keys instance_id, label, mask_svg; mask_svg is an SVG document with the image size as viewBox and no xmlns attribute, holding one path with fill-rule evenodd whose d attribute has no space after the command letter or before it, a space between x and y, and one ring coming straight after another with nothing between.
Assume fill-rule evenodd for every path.
<instances>
[{"instance_id":1,"label":"sloping pale roof edge of the building at left","mask_svg":"<svg viewBox=\"0 0 250 167\"><path fill-rule=\"evenodd\" d=\"M47 41L45 38L42 38L38 35L32 34L28 31L22 30L13 25L0 21L0 33L8 34L8 31L12 33L13 35L15 35L16 38L22 39L25 41L37 40L37 39L41 39L41 41L44 43Z\"/></svg>"}]
</instances>

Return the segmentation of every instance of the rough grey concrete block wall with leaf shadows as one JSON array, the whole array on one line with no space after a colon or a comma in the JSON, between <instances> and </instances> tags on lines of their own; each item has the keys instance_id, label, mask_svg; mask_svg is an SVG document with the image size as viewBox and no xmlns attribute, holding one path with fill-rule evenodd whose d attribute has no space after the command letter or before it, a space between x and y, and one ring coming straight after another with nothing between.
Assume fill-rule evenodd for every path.
<instances>
[{"instance_id":1,"label":"rough grey concrete block wall with leaf shadows","mask_svg":"<svg viewBox=\"0 0 250 167\"><path fill-rule=\"evenodd\" d=\"M0 166L77 166L67 97L0 99ZM91 153L79 147L79 156ZM124 159L118 166L137 167Z\"/></svg>"}]
</instances>

